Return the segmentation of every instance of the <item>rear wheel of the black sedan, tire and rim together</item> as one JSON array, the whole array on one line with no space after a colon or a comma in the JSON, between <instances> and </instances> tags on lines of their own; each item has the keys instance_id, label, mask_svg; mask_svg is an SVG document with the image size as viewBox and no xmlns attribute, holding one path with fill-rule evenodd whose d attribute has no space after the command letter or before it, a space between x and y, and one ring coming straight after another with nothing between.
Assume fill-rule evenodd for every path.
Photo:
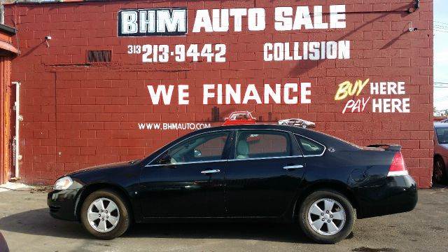
<instances>
[{"instance_id":1,"label":"rear wheel of the black sedan, tire and rim together","mask_svg":"<svg viewBox=\"0 0 448 252\"><path fill-rule=\"evenodd\" d=\"M307 237L321 244L335 244L353 230L356 211L341 193L318 190L304 199L298 217Z\"/></svg>"}]
</instances>

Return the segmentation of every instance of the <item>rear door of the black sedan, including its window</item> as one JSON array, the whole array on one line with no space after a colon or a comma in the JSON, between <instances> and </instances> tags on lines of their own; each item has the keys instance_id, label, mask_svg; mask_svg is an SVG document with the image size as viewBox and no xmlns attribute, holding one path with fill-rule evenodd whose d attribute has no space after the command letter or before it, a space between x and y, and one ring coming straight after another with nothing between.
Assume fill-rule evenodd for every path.
<instances>
[{"instance_id":1,"label":"rear door of the black sedan, including its window","mask_svg":"<svg viewBox=\"0 0 448 252\"><path fill-rule=\"evenodd\" d=\"M304 167L289 132L239 130L225 170L228 216L281 216L292 207Z\"/></svg>"}]
</instances>

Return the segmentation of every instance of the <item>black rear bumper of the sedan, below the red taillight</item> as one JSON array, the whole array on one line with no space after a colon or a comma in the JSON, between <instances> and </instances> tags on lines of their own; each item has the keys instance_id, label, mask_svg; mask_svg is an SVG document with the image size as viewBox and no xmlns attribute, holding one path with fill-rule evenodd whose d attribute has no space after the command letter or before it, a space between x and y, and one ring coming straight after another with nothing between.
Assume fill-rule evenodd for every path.
<instances>
[{"instance_id":1,"label":"black rear bumper of the sedan, below the red taillight","mask_svg":"<svg viewBox=\"0 0 448 252\"><path fill-rule=\"evenodd\" d=\"M409 175L390 176L384 186L359 189L358 218L411 211L417 204L417 186Z\"/></svg>"}]
</instances>

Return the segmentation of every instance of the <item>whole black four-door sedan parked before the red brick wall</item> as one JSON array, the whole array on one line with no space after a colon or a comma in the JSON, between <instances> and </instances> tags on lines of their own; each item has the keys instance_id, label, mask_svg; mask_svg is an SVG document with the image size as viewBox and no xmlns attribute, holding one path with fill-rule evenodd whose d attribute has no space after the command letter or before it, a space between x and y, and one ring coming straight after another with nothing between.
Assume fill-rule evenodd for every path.
<instances>
[{"instance_id":1,"label":"whole black four-door sedan parked before the red brick wall","mask_svg":"<svg viewBox=\"0 0 448 252\"><path fill-rule=\"evenodd\" d=\"M283 221L332 244L356 218L414 209L416 183L400 146L361 148L286 125L198 130L143 160L68 174L48 194L50 214L100 239L130 223Z\"/></svg>"}]
</instances>

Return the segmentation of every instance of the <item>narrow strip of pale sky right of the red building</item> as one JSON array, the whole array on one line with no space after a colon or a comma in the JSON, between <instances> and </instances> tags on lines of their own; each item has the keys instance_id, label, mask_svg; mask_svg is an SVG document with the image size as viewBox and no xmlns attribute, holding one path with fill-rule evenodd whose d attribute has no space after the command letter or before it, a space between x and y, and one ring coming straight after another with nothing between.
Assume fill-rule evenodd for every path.
<instances>
[{"instance_id":1,"label":"narrow strip of pale sky right of the red building","mask_svg":"<svg viewBox=\"0 0 448 252\"><path fill-rule=\"evenodd\" d=\"M434 83L448 83L448 1L434 0ZM443 84L440 84L443 85ZM434 87L434 106L448 109L448 84Z\"/></svg>"}]
</instances>

